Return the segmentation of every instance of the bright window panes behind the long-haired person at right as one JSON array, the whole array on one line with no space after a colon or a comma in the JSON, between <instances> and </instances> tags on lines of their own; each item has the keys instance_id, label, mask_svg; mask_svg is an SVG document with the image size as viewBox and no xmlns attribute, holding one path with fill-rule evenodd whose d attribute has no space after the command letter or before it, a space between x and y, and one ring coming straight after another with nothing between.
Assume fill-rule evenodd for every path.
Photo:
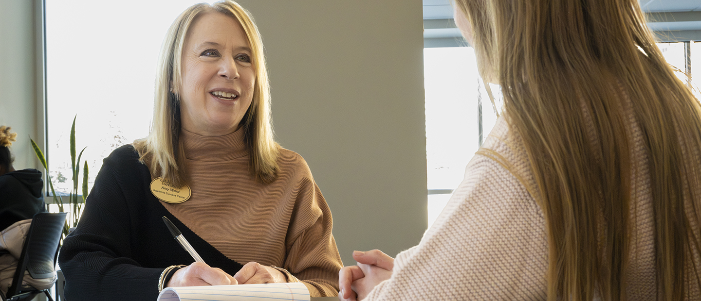
<instances>
[{"instance_id":1,"label":"bright window panes behind the long-haired person at right","mask_svg":"<svg viewBox=\"0 0 701 301\"><path fill-rule=\"evenodd\" d=\"M687 82L685 73L701 74L701 43L658 43L658 47L669 64L680 71L677 76L683 82ZM472 47L424 48L423 64L430 227L494 126L496 113L479 79ZM697 78L695 85L699 81ZM499 87L486 85L490 85L500 107ZM698 90L696 93L697 98L701 96Z\"/></svg>"}]
</instances>

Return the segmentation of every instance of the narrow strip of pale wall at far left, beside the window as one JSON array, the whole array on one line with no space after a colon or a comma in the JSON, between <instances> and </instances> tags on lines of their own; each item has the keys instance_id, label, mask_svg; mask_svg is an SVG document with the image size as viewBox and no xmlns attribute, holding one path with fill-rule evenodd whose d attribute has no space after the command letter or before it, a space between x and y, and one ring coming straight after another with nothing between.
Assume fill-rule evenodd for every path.
<instances>
[{"instance_id":1,"label":"narrow strip of pale wall at far left, beside the window","mask_svg":"<svg viewBox=\"0 0 701 301\"><path fill-rule=\"evenodd\" d=\"M18 133L16 169L38 168L29 142L41 141L37 122L34 1L0 0L0 125Z\"/></svg>"}]
</instances>

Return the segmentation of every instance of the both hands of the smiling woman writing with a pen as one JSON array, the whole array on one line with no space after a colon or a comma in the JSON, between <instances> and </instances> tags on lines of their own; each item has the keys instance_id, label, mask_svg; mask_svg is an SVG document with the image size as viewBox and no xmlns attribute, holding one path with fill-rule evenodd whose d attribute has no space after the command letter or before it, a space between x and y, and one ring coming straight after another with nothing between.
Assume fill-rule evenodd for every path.
<instances>
[{"instance_id":1,"label":"both hands of the smiling woman writing with a pen","mask_svg":"<svg viewBox=\"0 0 701 301\"><path fill-rule=\"evenodd\" d=\"M229 284L272 284L287 282L285 274L254 261L246 263L233 277L219 267L194 262L177 270L166 287L219 286Z\"/></svg>"}]
</instances>

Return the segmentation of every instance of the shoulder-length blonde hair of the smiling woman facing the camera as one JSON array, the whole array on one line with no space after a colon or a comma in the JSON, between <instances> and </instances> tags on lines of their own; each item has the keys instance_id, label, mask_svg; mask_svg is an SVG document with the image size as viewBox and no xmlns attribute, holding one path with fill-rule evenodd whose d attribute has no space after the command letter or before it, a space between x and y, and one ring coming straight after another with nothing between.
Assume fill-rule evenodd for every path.
<instances>
[{"instance_id":1,"label":"shoulder-length blonde hair of the smiling woman facing the camera","mask_svg":"<svg viewBox=\"0 0 701 301\"><path fill-rule=\"evenodd\" d=\"M244 140L250 153L252 176L263 183L275 180L278 170L279 145L273 140L270 113L270 87L263 43L250 13L238 3L225 0L210 6L198 3L187 8L170 25L161 46L156 72L154 120L147 138L136 140L134 147L140 160L149 166L152 175L162 176L172 184L185 183L184 154L180 136L179 89L182 82L182 52L186 35L199 15L222 13L237 20L251 47L251 61L256 78L253 100L242 124Z\"/></svg>"}]
</instances>

